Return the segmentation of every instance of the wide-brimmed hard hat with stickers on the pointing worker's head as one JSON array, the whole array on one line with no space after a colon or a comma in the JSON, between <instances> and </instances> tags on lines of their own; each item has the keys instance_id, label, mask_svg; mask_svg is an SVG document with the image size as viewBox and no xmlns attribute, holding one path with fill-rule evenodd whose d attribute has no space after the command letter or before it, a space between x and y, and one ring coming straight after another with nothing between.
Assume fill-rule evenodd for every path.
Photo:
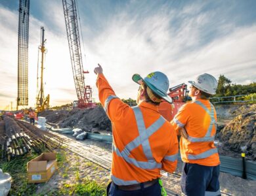
<instances>
[{"instance_id":1,"label":"wide-brimmed hard hat with stickers on the pointing worker's head","mask_svg":"<svg viewBox=\"0 0 256 196\"><path fill-rule=\"evenodd\" d=\"M169 80L167 76L160 71L155 71L153 73L148 74L145 78L139 74L133 75L133 81L138 84L144 82L150 90L152 90L156 95L159 95L161 98L165 99L165 101L172 103L171 97L167 95L167 91L169 89Z\"/></svg>"}]
</instances>

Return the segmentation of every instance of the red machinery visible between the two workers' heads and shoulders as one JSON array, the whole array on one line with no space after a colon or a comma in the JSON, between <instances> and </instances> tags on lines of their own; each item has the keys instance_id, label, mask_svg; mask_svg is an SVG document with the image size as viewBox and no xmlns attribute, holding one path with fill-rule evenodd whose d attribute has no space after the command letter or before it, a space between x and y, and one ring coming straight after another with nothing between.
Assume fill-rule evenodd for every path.
<instances>
[{"instance_id":1,"label":"red machinery visible between the two workers' heads and shoulders","mask_svg":"<svg viewBox=\"0 0 256 196\"><path fill-rule=\"evenodd\" d=\"M177 114L179 108L188 101L188 90L186 84L179 84L173 88L169 88L169 97L173 99L173 104L163 101L158 106L158 110L167 121L171 121L175 114Z\"/></svg>"}]
</instances>

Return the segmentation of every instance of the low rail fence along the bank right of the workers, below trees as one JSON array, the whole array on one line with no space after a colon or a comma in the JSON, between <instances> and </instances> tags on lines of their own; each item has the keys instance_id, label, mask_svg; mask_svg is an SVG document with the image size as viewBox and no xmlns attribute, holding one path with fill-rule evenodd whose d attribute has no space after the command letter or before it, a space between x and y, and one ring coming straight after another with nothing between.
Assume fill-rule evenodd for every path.
<instances>
[{"instance_id":1,"label":"low rail fence along the bank right of the workers, below trees","mask_svg":"<svg viewBox=\"0 0 256 196\"><path fill-rule=\"evenodd\" d=\"M228 97L212 97L211 103L243 103L243 102L255 102L255 93L250 95L234 95Z\"/></svg>"}]
</instances>

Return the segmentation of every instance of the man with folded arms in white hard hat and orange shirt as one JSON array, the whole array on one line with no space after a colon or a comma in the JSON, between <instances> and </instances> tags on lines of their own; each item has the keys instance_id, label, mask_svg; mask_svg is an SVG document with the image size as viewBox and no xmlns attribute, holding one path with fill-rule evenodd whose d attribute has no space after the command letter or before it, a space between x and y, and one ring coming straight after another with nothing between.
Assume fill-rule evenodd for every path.
<instances>
[{"instance_id":1,"label":"man with folded arms in white hard hat and orange shirt","mask_svg":"<svg viewBox=\"0 0 256 196\"><path fill-rule=\"evenodd\" d=\"M181 189L185 195L221 195L219 187L219 154L214 145L217 116L209 97L217 89L217 80L201 74L188 81L191 103L183 105L172 120L181 134L180 151L184 162Z\"/></svg>"}]
</instances>

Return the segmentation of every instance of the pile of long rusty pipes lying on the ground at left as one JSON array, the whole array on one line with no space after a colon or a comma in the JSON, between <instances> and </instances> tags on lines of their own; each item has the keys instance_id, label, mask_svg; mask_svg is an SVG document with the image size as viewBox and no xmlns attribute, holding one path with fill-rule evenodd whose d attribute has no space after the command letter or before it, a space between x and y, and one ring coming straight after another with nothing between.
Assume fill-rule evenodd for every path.
<instances>
[{"instance_id":1,"label":"pile of long rusty pipes lying on the ground at left","mask_svg":"<svg viewBox=\"0 0 256 196\"><path fill-rule=\"evenodd\" d=\"M42 150L53 151L62 146L63 139L42 131L34 125L20 120L14 120L8 116L4 118L5 136L1 137L2 162L10 161L14 157Z\"/></svg>"}]
</instances>

